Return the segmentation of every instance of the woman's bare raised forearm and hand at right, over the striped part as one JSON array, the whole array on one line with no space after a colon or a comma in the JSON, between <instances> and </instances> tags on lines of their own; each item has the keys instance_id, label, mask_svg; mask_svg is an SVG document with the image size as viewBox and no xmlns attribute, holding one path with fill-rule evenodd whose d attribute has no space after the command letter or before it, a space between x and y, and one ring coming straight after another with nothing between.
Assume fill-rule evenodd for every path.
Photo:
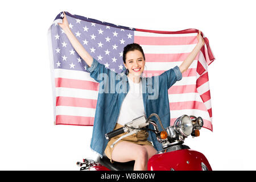
<instances>
[{"instance_id":1,"label":"woman's bare raised forearm and hand at right, over the striped part","mask_svg":"<svg viewBox=\"0 0 256 182\"><path fill-rule=\"evenodd\" d=\"M192 64L193 60L195 60L195 57L197 53L199 53L201 47L204 46L204 38L201 36L201 31L198 32L197 34L197 44L196 47L193 48L192 52L188 55L188 57L181 63L180 65L180 72L183 73L185 72L188 67Z\"/></svg>"}]
</instances>

